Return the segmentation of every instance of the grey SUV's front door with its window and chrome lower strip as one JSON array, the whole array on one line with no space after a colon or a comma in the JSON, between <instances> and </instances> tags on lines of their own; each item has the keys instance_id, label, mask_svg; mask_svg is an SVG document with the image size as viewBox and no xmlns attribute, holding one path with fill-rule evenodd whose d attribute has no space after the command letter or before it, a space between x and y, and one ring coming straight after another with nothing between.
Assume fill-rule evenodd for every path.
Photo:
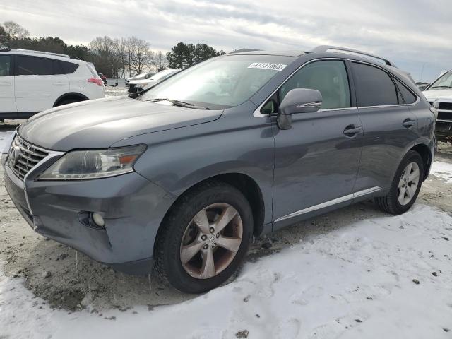
<instances>
[{"instance_id":1,"label":"grey SUV's front door with its window and chrome lower strip","mask_svg":"<svg viewBox=\"0 0 452 339\"><path fill-rule=\"evenodd\" d=\"M323 101L318 112L293 114L292 128L275 136L275 228L352 202L362 129L348 79L345 61L314 61L280 87L280 100L311 88Z\"/></svg>"}]
</instances>

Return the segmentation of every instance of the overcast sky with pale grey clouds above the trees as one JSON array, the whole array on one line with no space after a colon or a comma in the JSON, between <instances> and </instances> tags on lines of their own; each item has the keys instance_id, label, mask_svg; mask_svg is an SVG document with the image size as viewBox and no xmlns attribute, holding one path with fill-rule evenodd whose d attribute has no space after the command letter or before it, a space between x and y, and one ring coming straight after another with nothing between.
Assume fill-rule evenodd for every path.
<instances>
[{"instance_id":1,"label":"overcast sky with pale grey clouds above the trees","mask_svg":"<svg viewBox=\"0 0 452 339\"><path fill-rule=\"evenodd\" d=\"M0 20L68 43L136 35L163 51L180 41L225 52L333 44L381 54L416 81L422 68L423 81L452 69L451 0L21 0L2 1Z\"/></svg>"}]
</instances>

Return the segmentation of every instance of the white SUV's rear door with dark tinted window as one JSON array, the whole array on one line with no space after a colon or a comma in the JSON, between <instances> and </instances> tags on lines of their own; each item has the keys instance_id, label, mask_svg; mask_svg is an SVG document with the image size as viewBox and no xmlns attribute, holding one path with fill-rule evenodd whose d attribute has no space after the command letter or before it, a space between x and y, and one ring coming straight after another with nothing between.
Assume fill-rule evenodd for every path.
<instances>
[{"instance_id":1,"label":"white SUV's rear door with dark tinted window","mask_svg":"<svg viewBox=\"0 0 452 339\"><path fill-rule=\"evenodd\" d=\"M69 92L69 80L57 59L16 56L16 104L23 112L52 108L58 97Z\"/></svg>"}]
</instances>

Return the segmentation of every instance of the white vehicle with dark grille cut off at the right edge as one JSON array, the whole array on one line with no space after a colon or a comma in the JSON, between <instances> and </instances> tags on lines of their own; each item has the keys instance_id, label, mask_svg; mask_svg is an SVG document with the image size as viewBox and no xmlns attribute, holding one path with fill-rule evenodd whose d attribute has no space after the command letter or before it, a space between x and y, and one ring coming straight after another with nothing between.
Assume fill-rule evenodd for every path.
<instances>
[{"instance_id":1,"label":"white vehicle with dark grille cut off at the right edge","mask_svg":"<svg viewBox=\"0 0 452 339\"><path fill-rule=\"evenodd\" d=\"M452 70L441 73L422 93L436 114L436 139L452 142Z\"/></svg>"}]
</instances>

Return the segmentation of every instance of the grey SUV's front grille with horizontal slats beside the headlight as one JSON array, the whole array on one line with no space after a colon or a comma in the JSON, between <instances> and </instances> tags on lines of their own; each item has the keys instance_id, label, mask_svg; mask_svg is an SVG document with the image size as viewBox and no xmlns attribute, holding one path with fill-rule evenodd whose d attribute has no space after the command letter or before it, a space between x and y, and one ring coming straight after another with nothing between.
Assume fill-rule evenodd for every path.
<instances>
[{"instance_id":1,"label":"grey SUV's front grille with horizontal slats beside the headlight","mask_svg":"<svg viewBox=\"0 0 452 339\"><path fill-rule=\"evenodd\" d=\"M8 165L17 177L23 179L47 155L49 155L48 152L30 145L16 136L9 150Z\"/></svg>"}]
</instances>

